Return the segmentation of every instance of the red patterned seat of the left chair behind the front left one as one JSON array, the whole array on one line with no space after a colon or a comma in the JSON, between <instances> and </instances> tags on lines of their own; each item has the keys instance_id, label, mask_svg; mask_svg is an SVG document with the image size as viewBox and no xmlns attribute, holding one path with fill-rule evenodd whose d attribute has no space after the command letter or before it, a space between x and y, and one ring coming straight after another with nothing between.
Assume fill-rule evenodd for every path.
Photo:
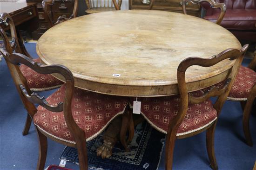
<instances>
[{"instance_id":1,"label":"red patterned seat of the left chair behind the front left one","mask_svg":"<svg viewBox=\"0 0 256 170\"><path fill-rule=\"evenodd\" d=\"M40 63L39 58L33 59L33 61ZM44 91L59 88L61 87L61 84L63 84L63 82L59 81L54 76L39 74L24 64L20 65L20 71L26 78L28 87L32 91Z\"/></svg>"}]
</instances>

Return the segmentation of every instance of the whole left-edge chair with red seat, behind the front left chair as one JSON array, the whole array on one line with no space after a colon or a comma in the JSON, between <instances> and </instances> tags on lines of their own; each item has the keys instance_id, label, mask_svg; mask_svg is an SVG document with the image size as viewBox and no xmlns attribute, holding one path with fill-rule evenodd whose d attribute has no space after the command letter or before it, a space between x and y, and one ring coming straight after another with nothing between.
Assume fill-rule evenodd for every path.
<instances>
[{"instance_id":1,"label":"whole left-edge chair with red seat, behind the front left chair","mask_svg":"<svg viewBox=\"0 0 256 170\"><path fill-rule=\"evenodd\" d=\"M27 52L23 44L22 38L20 37L20 33L16 31L15 25L13 23L13 19L11 18L11 16L8 13L1 13L0 17L5 21L2 24L9 25L10 31L11 31L11 38L12 38L11 43L9 42L9 39L6 33L3 30L0 31L0 35L3 38L5 49L7 50L7 52L13 53L13 51L15 51L32 58ZM40 59L37 58L37 59L34 59L34 61L40 62ZM19 68L21 70L21 73L27 80L28 87L32 91L51 90L51 89L59 88L61 87L61 84L63 84L63 82L59 81L54 76L38 74L35 71L29 69L25 65L21 64ZM31 125L31 118L29 115L27 115L26 124L22 132L23 135L26 135L28 133L30 125Z\"/></svg>"}]
</instances>

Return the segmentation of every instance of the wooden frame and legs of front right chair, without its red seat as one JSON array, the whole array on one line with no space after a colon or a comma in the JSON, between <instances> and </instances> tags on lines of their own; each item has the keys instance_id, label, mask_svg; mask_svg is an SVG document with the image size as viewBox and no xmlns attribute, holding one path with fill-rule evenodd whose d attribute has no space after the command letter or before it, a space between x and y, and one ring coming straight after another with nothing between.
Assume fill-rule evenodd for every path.
<instances>
[{"instance_id":1,"label":"wooden frame and legs of front right chair, without its red seat","mask_svg":"<svg viewBox=\"0 0 256 170\"><path fill-rule=\"evenodd\" d=\"M216 122L215 120L213 123L210 125L204 127L203 129L185 134L182 136L176 136L177 130L179 126L182 123L182 120L184 119L185 114L187 113L188 105L189 103L191 104L197 104L201 103L210 97L218 97L217 101L213 105L213 107L217 111L217 117L219 116L222 106L228 97L229 91L231 89L231 86L233 82L235 81L236 74L238 72L238 68L240 67L243 56L248 48L248 44L244 45L241 50L237 49L227 49L222 51L220 54L217 56L210 57L208 59L203 59L199 57L189 57L185 60L183 60L177 69L177 80L178 80L178 88L181 96L181 107L177 113L177 116L169 122L168 125L168 132L167 132L167 137L166 137L166 148L165 148L165 169L166 170L171 170L172 169L172 163L173 163L173 151L174 151L174 146L175 146L175 140L176 139L182 139L182 138L187 138L190 136L194 136L198 133L201 133L203 131L206 132L206 143L207 143L207 151L208 151L208 156L210 159L210 165L212 169L217 170L218 166L216 163L216 157L214 153L214 132L216 128ZM203 96L201 97L194 97L188 94L187 86L186 86L186 78L185 78L185 72L186 70L192 66L192 65L199 65L202 67L210 67L215 65L216 63L221 62L224 59L229 60L234 60L236 59L236 62L234 66L229 69L229 74L226 79L226 84L222 89L219 89L217 87L213 87L209 89L208 92L206 92Z\"/></svg>"}]
</instances>

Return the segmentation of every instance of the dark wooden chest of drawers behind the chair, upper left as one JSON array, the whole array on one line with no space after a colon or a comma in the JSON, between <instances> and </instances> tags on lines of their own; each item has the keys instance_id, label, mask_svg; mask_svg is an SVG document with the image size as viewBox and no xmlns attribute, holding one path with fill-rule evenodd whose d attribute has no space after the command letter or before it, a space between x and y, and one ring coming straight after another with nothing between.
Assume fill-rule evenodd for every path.
<instances>
[{"instance_id":1,"label":"dark wooden chest of drawers behind the chair, upper left","mask_svg":"<svg viewBox=\"0 0 256 170\"><path fill-rule=\"evenodd\" d=\"M40 36L50 28L50 23L45 19L45 14L42 8L42 0L27 0L27 2L36 3L39 18L39 27L36 31L32 32L33 39L37 40ZM47 6L47 11L55 23L59 16L69 18L73 13L74 0L54 0L52 6Z\"/></svg>"}]
</instances>

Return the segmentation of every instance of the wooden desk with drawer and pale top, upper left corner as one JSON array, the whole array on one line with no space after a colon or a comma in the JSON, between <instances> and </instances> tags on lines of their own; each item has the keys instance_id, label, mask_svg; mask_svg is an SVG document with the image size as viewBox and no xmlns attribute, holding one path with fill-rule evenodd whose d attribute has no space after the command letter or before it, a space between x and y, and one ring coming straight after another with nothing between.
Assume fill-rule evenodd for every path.
<instances>
[{"instance_id":1,"label":"wooden desk with drawer and pale top, upper left corner","mask_svg":"<svg viewBox=\"0 0 256 170\"><path fill-rule=\"evenodd\" d=\"M37 16L35 4L26 2L0 2L0 13L9 13L15 25L20 25ZM9 29L6 25L3 27L4 30Z\"/></svg>"}]
</instances>

